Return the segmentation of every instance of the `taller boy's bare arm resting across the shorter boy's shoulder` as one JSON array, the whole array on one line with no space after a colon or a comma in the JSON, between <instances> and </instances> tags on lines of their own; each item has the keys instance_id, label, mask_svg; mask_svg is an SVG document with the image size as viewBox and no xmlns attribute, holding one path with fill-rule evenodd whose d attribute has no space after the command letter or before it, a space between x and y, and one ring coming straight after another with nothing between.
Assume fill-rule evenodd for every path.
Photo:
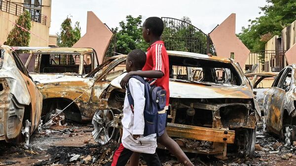
<instances>
[{"instance_id":1,"label":"taller boy's bare arm resting across the shorter boy's shoulder","mask_svg":"<svg viewBox=\"0 0 296 166\"><path fill-rule=\"evenodd\" d=\"M163 77L164 74L162 71L158 71L158 70L130 71L120 81L120 86L122 89L125 89L125 86L132 75L139 75L146 78L161 78Z\"/></svg>"}]
</instances>

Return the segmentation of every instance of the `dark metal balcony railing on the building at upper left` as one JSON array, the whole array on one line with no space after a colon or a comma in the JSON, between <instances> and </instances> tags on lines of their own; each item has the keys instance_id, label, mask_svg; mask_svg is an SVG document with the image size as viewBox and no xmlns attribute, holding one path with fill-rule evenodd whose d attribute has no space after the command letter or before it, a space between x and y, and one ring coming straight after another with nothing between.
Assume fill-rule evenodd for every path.
<instances>
[{"instance_id":1,"label":"dark metal balcony railing on the building at upper left","mask_svg":"<svg viewBox=\"0 0 296 166\"><path fill-rule=\"evenodd\" d=\"M45 15L41 14L36 10L26 8L24 6L7 0L0 0L0 10L9 14L13 14L15 16L20 16L24 10L27 10L31 14L32 21L46 25L47 17Z\"/></svg>"}]
</instances>

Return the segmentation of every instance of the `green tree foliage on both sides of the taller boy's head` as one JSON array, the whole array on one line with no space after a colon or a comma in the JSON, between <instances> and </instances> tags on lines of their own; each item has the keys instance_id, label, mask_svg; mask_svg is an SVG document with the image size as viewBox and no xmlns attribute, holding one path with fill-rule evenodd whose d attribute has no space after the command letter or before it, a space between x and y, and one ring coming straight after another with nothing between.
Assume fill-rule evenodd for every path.
<instances>
[{"instance_id":1,"label":"green tree foliage on both sides of the taller boy's head","mask_svg":"<svg viewBox=\"0 0 296 166\"><path fill-rule=\"evenodd\" d=\"M204 33L190 25L188 17L182 18L182 24L174 24L173 21L164 23L165 29L162 39L167 49L177 51L189 51L196 53L206 53L207 37ZM133 49L142 49L146 51L149 43L146 43L142 37L142 16L126 16L126 21L119 22L119 28L111 29L115 36L111 41L111 46L107 56L113 56L115 52L128 54ZM118 31L119 30L119 31ZM115 44L114 44L115 43Z\"/></svg>"}]
</instances>

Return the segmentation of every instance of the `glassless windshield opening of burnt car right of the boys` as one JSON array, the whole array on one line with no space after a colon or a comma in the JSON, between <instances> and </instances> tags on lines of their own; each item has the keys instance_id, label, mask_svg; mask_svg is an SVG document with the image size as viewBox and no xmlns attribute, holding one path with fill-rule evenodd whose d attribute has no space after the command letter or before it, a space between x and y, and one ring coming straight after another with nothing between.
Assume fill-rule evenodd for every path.
<instances>
[{"instance_id":1,"label":"glassless windshield opening of burnt car right of the boys","mask_svg":"<svg viewBox=\"0 0 296 166\"><path fill-rule=\"evenodd\" d=\"M239 74L230 63L174 56L169 57L169 60L170 78L172 79L218 85L239 86L242 84Z\"/></svg>"}]
</instances>

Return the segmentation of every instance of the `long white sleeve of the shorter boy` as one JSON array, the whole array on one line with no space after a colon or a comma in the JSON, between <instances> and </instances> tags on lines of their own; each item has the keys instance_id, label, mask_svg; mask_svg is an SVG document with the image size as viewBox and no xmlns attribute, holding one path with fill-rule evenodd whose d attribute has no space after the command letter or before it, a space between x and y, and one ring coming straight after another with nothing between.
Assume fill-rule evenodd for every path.
<instances>
[{"instance_id":1,"label":"long white sleeve of the shorter boy","mask_svg":"<svg viewBox=\"0 0 296 166\"><path fill-rule=\"evenodd\" d=\"M145 108L145 92L142 90L142 84L136 78L129 79L128 83L130 93L134 99L134 127L133 135L144 134L144 108Z\"/></svg>"}]
</instances>

